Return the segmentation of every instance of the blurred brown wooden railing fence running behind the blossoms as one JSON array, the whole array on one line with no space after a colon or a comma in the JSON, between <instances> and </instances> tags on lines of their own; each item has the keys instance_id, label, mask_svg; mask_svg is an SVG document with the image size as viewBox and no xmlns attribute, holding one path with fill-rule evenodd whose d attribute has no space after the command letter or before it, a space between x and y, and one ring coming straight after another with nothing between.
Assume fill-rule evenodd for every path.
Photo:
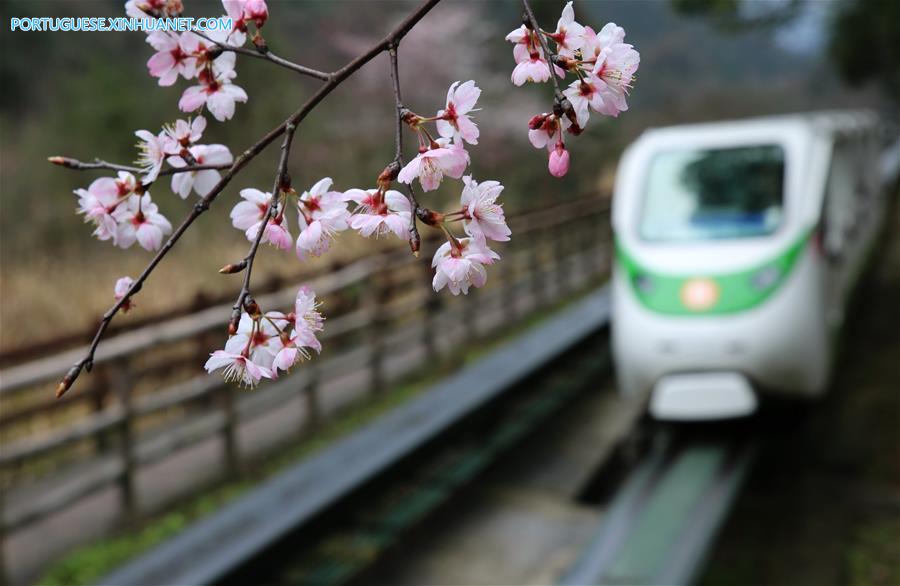
<instances>
[{"instance_id":1,"label":"blurred brown wooden railing fence running behind the blossoms","mask_svg":"<svg viewBox=\"0 0 900 586\"><path fill-rule=\"evenodd\" d=\"M309 427L340 407L323 405L334 403L331 391L323 394L325 381L346 380L342 388L352 392L339 393L346 400L378 393L389 380L452 355L468 336L596 282L609 268L607 211L605 199L590 198L510 218L516 238L501 249L505 259L488 286L468 299L433 294L428 263L402 251L316 278L310 284L329 314L326 351L254 392L196 374L224 337L225 306L107 340L88 379L93 388L76 389L72 399L50 399L51 381L83 349L0 371L0 539L109 485L121 492L123 514L138 515L138 471L211 438L221 441L226 473L236 474L241 427L286 400L303 397ZM259 301L286 307L295 291Z\"/></svg>"}]
</instances>

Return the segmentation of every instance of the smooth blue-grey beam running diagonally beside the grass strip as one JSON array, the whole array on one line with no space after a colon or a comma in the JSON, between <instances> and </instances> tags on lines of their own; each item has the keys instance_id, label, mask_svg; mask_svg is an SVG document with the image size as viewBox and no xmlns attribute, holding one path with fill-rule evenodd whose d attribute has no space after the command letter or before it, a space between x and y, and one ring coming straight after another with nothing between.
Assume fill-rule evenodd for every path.
<instances>
[{"instance_id":1,"label":"smooth blue-grey beam running diagonally beside the grass strip","mask_svg":"<svg viewBox=\"0 0 900 586\"><path fill-rule=\"evenodd\" d=\"M607 325L606 289L103 578L211 584ZM527 356L527 360L522 357Z\"/></svg>"}]
</instances>

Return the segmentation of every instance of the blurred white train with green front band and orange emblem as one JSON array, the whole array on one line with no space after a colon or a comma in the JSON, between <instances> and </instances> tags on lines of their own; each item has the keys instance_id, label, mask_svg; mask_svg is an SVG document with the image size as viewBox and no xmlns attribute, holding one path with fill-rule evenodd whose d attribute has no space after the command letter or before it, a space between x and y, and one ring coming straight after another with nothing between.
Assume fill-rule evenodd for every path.
<instances>
[{"instance_id":1,"label":"blurred white train with green front band and orange emblem","mask_svg":"<svg viewBox=\"0 0 900 586\"><path fill-rule=\"evenodd\" d=\"M881 131L824 112L640 136L612 207L620 390L667 420L820 396L885 213Z\"/></svg>"}]
</instances>

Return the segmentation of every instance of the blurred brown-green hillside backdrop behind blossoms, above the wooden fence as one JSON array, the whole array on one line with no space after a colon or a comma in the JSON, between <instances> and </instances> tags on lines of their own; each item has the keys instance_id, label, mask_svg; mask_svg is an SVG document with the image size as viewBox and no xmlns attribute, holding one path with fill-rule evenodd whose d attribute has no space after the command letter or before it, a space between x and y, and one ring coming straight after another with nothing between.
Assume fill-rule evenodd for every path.
<instances>
[{"instance_id":1,"label":"blurred brown-green hillside backdrop behind blossoms, above the wooden fence","mask_svg":"<svg viewBox=\"0 0 900 586\"><path fill-rule=\"evenodd\" d=\"M4 23L11 16L116 16L123 4L7 0L2 16ZM380 38L416 3L269 4L265 33L272 50L330 70ZM185 0L185 5L189 16L223 12L218 2ZM546 27L553 27L562 5L536 3ZM564 180L548 175L546 154L531 148L526 138L531 115L550 107L549 87L509 83L512 52L503 37L519 24L518 2L446 0L401 45L404 98L412 109L431 114L443 105L446 87L458 79L475 79L484 89L476 118L482 140L471 150L471 171L507 186L511 212L608 185L621 148L647 126L879 104L875 90L843 87L824 51L787 52L764 30L733 36L676 14L663 0L576 1L576 16L597 29L607 21L625 27L626 40L638 48L642 61L631 109L618 120L592 118L587 132L571 143L572 170ZM134 275L149 259L146 251L120 251L90 237L89 227L74 214L72 190L102 175L52 167L47 156L133 160L135 130L156 132L162 123L185 117L177 101L188 84L156 85L144 65L152 50L142 33L4 29L0 44L0 348L7 349L90 324L108 305L115 278ZM318 85L259 60L239 58L237 71L236 82L247 90L249 103L238 105L230 123L208 117L203 138L226 144L233 153L283 120ZM386 59L377 59L303 123L291 161L296 187L325 175L335 178L338 189L374 184L393 152L387 74ZM257 159L222 194L142 292L142 312L182 303L198 289L236 289L234 279L215 273L246 248L228 212L241 188L270 189L275 156L273 149ZM154 199L176 223L191 200L180 200L164 183L154 186ZM458 184L445 185L428 196L427 205L440 208L439 202L458 195ZM343 241L338 255L365 250L355 236ZM267 272L296 272L297 266L292 256L267 250L260 278Z\"/></svg>"}]
</instances>

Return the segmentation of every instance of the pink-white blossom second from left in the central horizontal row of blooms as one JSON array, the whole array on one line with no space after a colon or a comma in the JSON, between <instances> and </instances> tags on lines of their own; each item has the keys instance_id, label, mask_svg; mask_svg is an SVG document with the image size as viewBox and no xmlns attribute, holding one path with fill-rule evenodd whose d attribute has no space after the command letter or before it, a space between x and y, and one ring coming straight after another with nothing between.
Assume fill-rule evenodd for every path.
<instances>
[{"instance_id":1,"label":"pink-white blossom second from left in the central horizontal row of blooms","mask_svg":"<svg viewBox=\"0 0 900 586\"><path fill-rule=\"evenodd\" d=\"M299 197L300 234L295 249L300 259L322 255L337 233L349 227L347 200L340 192L330 191L331 184L330 177L320 179Z\"/></svg>"}]
</instances>

